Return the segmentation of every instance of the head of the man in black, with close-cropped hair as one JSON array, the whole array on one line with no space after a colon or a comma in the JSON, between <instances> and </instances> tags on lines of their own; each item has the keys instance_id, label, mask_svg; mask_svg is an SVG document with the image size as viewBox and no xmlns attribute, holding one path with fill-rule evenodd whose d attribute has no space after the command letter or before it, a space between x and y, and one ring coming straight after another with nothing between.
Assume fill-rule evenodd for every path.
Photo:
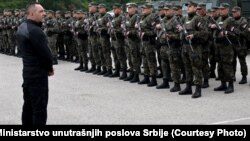
<instances>
[{"instance_id":1,"label":"head of the man in black, with close-cropped hair","mask_svg":"<svg viewBox=\"0 0 250 141\"><path fill-rule=\"evenodd\" d=\"M33 20L38 23L44 22L46 14L41 4L38 3L30 4L26 12L27 12L27 19Z\"/></svg>"}]
</instances>

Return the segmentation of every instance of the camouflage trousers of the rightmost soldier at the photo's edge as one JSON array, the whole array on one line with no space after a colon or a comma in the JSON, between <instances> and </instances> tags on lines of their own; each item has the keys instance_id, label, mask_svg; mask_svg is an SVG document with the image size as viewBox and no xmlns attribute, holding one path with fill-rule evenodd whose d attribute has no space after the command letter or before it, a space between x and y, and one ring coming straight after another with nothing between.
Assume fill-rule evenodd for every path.
<instances>
[{"instance_id":1,"label":"camouflage trousers of the rightmost soldier at the photo's edge","mask_svg":"<svg viewBox=\"0 0 250 141\"><path fill-rule=\"evenodd\" d=\"M237 58L238 58L240 62L241 75L247 76L248 75L248 68L246 63L247 47L239 46L239 44L235 44L233 47L234 47L234 60L233 60L234 74L236 73Z\"/></svg>"}]
</instances>

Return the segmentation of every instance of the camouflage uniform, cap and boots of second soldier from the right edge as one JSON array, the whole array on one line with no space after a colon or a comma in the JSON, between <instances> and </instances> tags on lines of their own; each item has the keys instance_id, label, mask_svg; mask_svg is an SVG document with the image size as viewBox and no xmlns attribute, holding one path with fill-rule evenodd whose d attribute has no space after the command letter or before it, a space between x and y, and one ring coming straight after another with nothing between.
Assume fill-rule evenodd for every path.
<instances>
[{"instance_id":1,"label":"camouflage uniform, cap and boots of second soldier from the right edge","mask_svg":"<svg viewBox=\"0 0 250 141\"><path fill-rule=\"evenodd\" d=\"M229 8L229 4L222 3L221 8ZM234 25L234 19L230 16L220 17L218 19L219 26L221 29L217 30L216 33L216 48L218 50L218 75L221 79L221 86L215 88L215 91L225 91L225 93L232 93L233 88L233 58L234 50L232 45L232 40L235 36L230 32L231 27ZM221 35L223 33L223 36ZM229 82L229 87L227 87L226 82Z\"/></svg>"}]
</instances>

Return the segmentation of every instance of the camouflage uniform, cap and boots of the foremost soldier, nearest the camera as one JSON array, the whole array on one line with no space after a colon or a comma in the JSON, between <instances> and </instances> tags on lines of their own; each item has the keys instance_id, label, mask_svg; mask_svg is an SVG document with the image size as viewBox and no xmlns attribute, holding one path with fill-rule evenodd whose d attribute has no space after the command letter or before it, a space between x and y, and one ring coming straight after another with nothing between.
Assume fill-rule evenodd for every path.
<instances>
[{"instance_id":1,"label":"camouflage uniform, cap and boots of the foremost soldier, nearest the camera","mask_svg":"<svg viewBox=\"0 0 250 141\"><path fill-rule=\"evenodd\" d=\"M189 2L189 5L196 7L197 4ZM192 82L196 85L192 98L201 96L202 85L202 46L201 43L207 40L207 27L204 20L196 13L189 13L183 25L187 33L183 34L182 57L186 71L186 88L179 92L180 95L192 94ZM185 39L187 35L193 35L193 39Z\"/></svg>"}]
</instances>

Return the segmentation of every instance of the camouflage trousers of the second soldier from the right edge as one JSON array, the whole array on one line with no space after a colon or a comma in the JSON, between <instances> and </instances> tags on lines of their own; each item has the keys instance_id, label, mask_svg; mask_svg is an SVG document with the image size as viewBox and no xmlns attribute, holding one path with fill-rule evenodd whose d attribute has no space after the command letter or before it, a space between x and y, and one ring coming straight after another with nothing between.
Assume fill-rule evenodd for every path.
<instances>
[{"instance_id":1,"label":"camouflage trousers of the second soldier from the right edge","mask_svg":"<svg viewBox=\"0 0 250 141\"><path fill-rule=\"evenodd\" d=\"M233 47L231 45L225 45L223 42L217 43L216 47L218 49L218 55L219 55L218 75L221 81L224 81L224 82L233 81L233 77L234 77Z\"/></svg>"}]
</instances>

